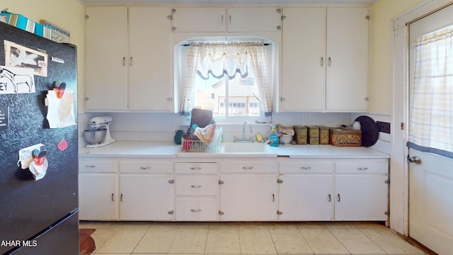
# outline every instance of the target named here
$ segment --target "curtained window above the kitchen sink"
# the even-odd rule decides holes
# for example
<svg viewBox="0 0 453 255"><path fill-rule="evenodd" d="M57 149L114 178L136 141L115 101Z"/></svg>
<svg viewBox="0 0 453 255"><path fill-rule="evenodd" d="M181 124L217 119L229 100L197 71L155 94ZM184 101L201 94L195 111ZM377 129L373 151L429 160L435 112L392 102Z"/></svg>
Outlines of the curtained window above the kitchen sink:
<svg viewBox="0 0 453 255"><path fill-rule="evenodd" d="M193 107L212 110L220 123L271 121L279 51L278 45L262 39L191 40L177 45L175 83L182 92L180 115L187 117Z"/></svg>

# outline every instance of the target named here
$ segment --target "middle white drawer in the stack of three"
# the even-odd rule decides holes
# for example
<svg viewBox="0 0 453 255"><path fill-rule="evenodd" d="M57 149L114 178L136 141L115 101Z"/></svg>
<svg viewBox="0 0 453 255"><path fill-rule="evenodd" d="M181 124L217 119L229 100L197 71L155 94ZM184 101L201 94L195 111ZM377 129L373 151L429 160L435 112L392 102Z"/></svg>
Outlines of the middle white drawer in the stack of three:
<svg viewBox="0 0 453 255"><path fill-rule="evenodd" d="M176 196L217 196L217 176L176 176Z"/></svg>

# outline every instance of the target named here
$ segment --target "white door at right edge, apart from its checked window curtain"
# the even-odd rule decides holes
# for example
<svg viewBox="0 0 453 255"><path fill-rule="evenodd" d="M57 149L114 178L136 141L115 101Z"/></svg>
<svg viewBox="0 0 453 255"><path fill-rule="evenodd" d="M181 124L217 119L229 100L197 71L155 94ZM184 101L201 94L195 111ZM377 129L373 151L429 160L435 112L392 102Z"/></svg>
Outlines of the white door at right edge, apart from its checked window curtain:
<svg viewBox="0 0 453 255"><path fill-rule="evenodd" d="M411 23L409 26L410 33L410 106L413 106L413 89L415 77L415 59L416 47L413 42L416 38L423 35L432 34L441 28L453 24L452 16L453 6L432 13L430 16ZM438 55L439 56L439 55ZM437 57L438 57L437 56ZM451 65L450 68L453 68ZM425 69L423 69L425 70ZM425 73L425 72L423 72ZM432 77L432 75L430 75ZM432 78L435 79L435 78ZM418 79L417 79L418 80ZM451 79L450 79L451 81ZM449 84L445 82L443 84ZM450 88L451 88L450 84ZM435 94L435 89L430 89L430 93ZM451 111L452 102L447 101L449 111ZM439 113L435 106L430 107L430 111ZM410 117L412 121L417 119ZM449 125L450 133L452 132L452 123ZM411 127L409 127L411 129ZM415 132L418 129L412 128L409 131ZM425 131L430 132L430 131ZM443 139L451 140L445 133ZM408 149L411 164L409 164L409 236L421 244L427 246L437 254L451 254L453 243L453 159L449 157L421 152L417 147L412 146ZM424 150L424 149L423 149Z"/></svg>

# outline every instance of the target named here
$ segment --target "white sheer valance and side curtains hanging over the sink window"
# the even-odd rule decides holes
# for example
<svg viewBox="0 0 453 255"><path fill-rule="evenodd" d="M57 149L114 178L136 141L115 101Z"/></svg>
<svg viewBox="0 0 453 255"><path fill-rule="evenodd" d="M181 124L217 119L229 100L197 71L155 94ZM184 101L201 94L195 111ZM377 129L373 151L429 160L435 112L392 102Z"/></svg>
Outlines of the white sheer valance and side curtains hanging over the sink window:
<svg viewBox="0 0 453 255"><path fill-rule="evenodd" d="M188 102L193 95L196 75L202 79L208 79L209 75L217 78L226 75L233 79L236 73L246 77L248 60L255 74L263 111L266 116L271 115L272 98L263 42L190 42L181 115L190 115Z"/></svg>

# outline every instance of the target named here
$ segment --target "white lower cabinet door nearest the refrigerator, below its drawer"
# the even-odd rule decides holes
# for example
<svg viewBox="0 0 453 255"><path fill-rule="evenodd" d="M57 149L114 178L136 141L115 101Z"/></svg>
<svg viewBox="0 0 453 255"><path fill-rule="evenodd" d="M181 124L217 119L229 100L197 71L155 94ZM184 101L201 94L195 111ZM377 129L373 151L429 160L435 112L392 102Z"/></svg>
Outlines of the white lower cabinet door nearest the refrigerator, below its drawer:
<svg viewBox="0 0 453 255"><path fill-rule="evenodd" d="M117 220L117 175L79 174L80 220Z"/></svg>

